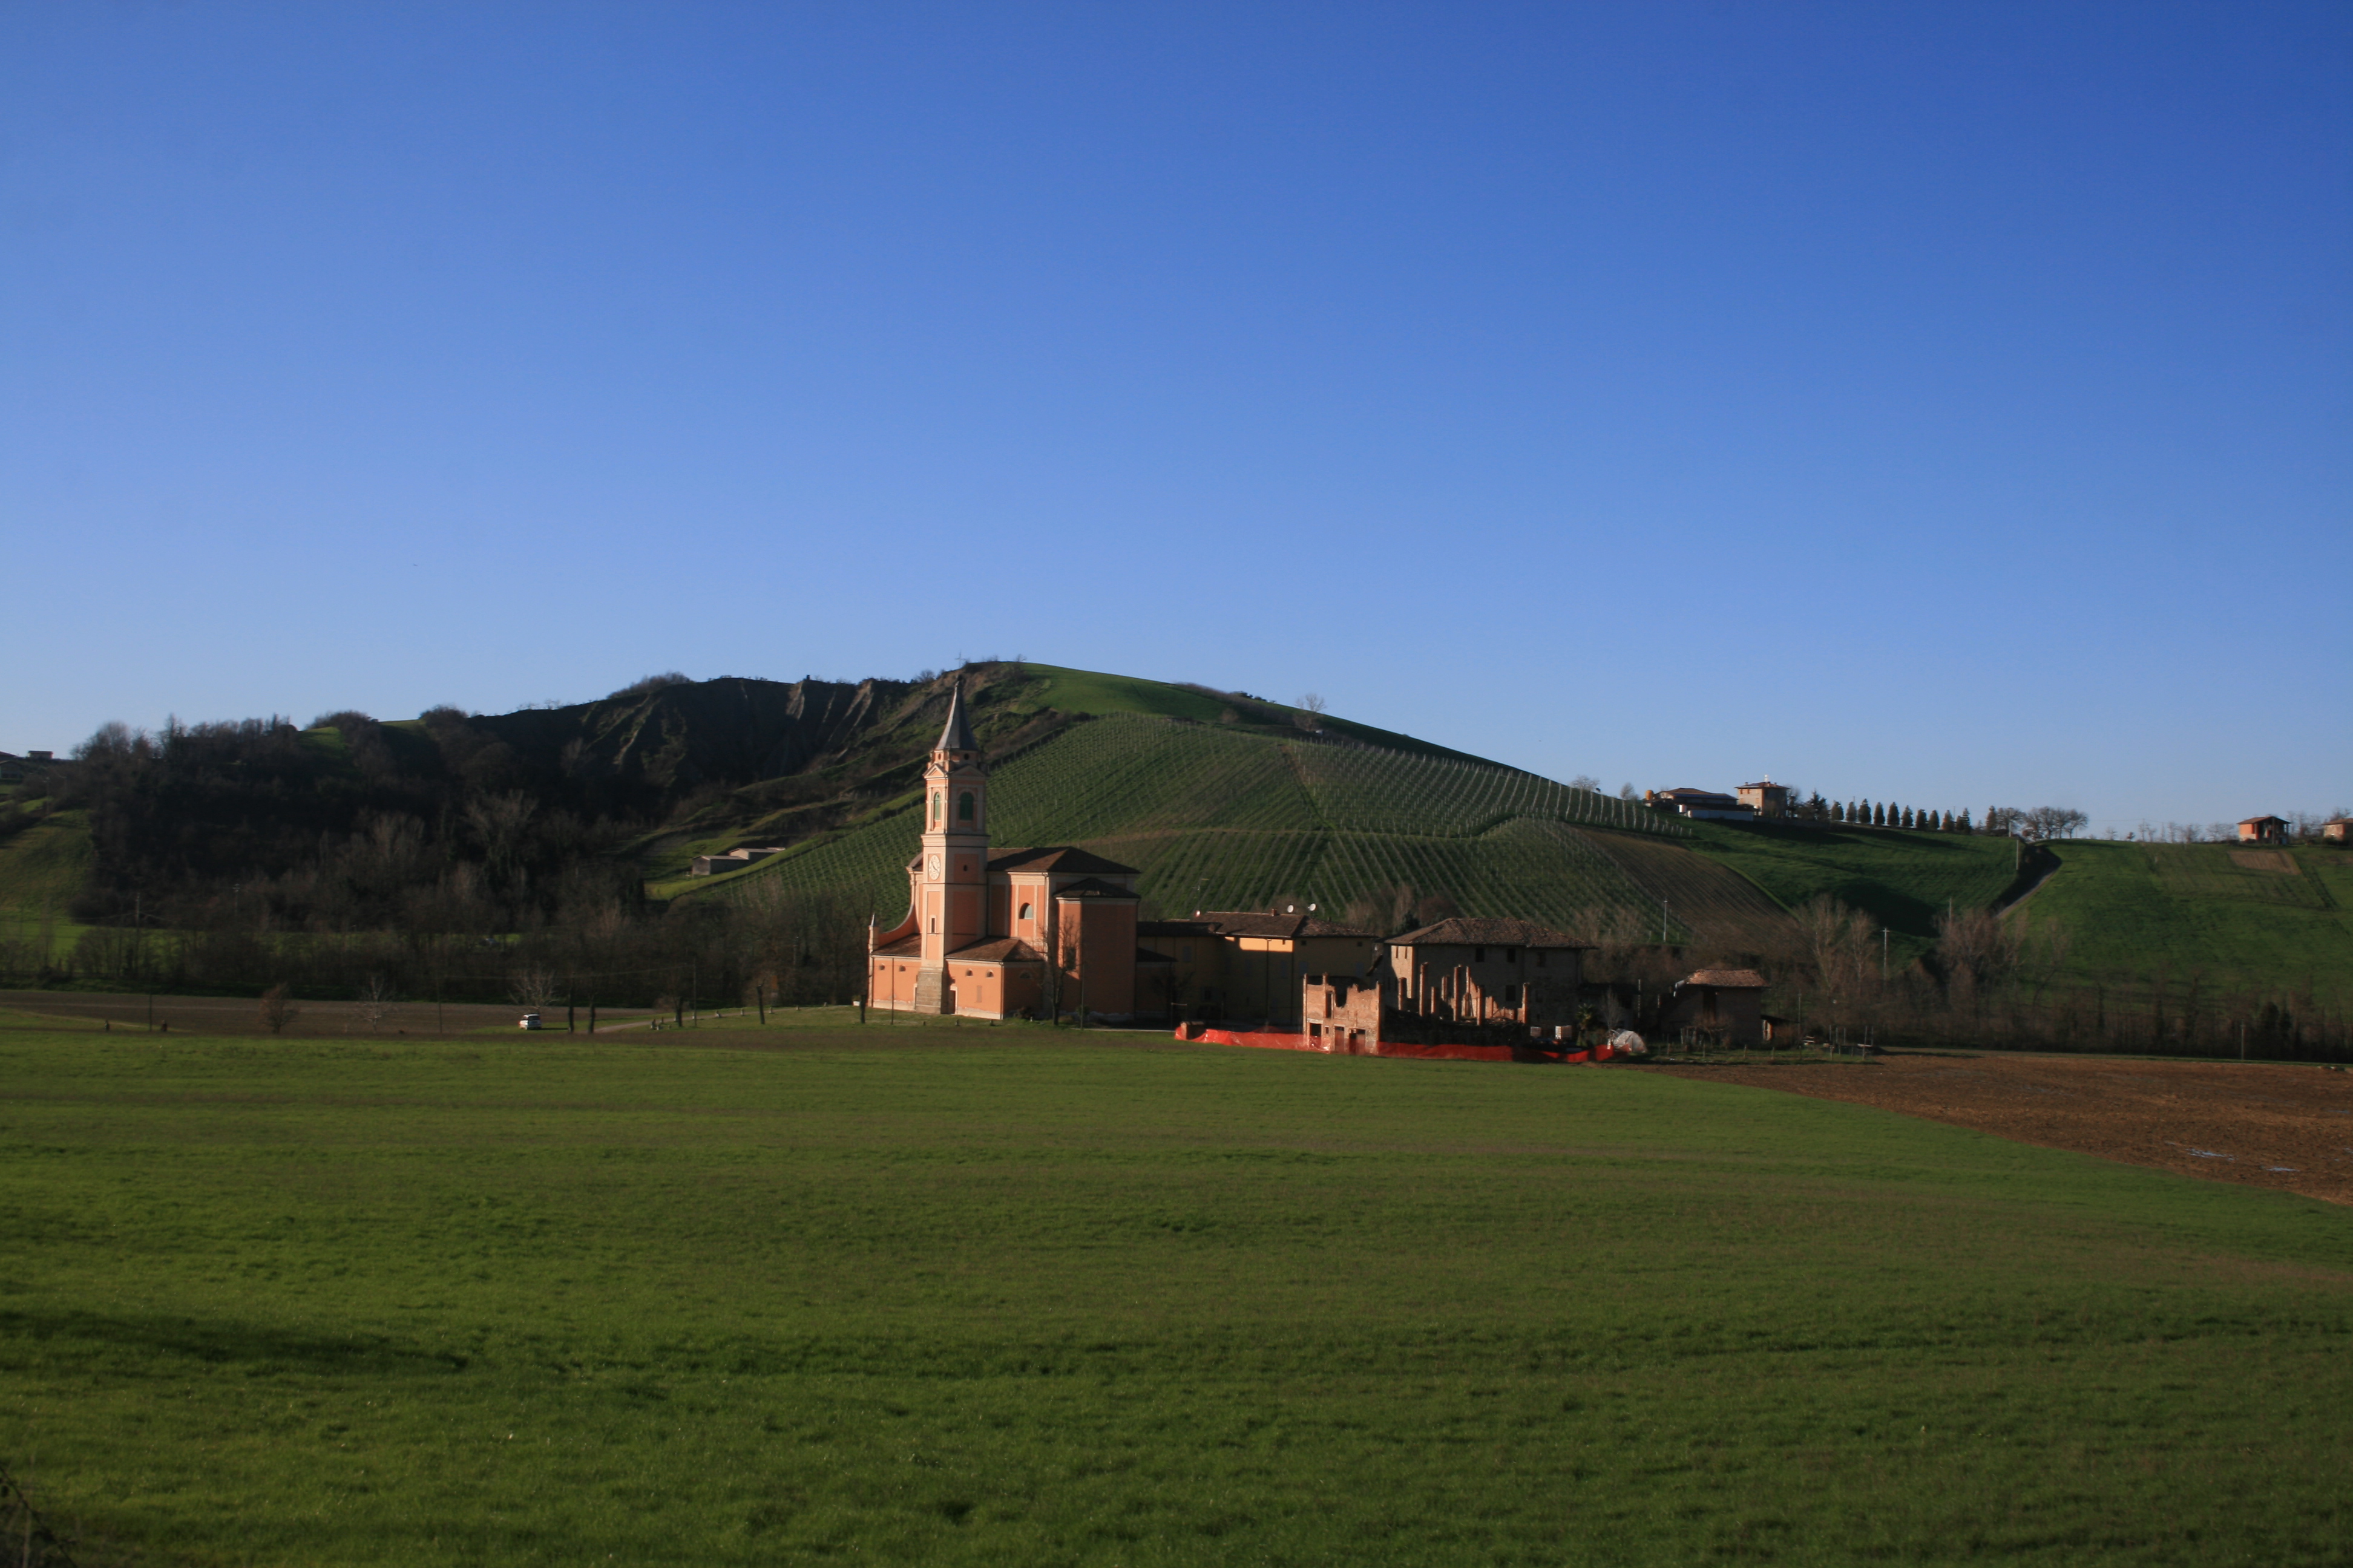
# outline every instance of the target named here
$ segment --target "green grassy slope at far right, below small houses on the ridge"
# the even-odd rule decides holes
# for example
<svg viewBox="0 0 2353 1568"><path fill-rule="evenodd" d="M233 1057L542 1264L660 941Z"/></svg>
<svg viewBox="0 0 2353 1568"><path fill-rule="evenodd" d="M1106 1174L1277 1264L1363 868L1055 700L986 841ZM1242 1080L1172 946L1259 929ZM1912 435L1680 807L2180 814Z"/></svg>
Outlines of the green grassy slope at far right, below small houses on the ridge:
<svg viewBox="0 0 2353 1568"><path fill-rule="evenodd" d="M2292 872L2257 870L2224 844L2054 844L2059 870L2026 910L2071 931L2078 978L2304 985L2353 992L2353 856L2268 851Z"/></svg>

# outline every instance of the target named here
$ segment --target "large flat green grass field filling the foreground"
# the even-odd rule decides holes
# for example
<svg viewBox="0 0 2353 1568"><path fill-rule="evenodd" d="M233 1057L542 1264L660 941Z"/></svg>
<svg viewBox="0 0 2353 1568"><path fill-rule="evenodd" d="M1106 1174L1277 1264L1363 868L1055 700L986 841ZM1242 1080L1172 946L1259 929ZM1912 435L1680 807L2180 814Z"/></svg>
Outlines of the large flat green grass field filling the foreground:
<svg viewBox="0 0 2353 1568"><path fill-rule="evenodd" d="M144 1563L2353 1554L2341 1208L1633 1070L793 1023L0 1023L7 1458Z"/></svg>

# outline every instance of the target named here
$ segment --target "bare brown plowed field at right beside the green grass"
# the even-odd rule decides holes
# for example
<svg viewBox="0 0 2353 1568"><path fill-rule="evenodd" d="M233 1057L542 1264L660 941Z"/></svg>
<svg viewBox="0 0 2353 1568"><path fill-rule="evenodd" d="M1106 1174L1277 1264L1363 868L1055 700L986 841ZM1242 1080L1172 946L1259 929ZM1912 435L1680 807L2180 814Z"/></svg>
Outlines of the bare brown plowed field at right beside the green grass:
<svg viewBox="0 0 2353 1568"><path fill-rule="evenodd" d="M2007 1053L1645 1072L1878 1105L2047 1150L2353 1204L2353 1072Z"/></svg>

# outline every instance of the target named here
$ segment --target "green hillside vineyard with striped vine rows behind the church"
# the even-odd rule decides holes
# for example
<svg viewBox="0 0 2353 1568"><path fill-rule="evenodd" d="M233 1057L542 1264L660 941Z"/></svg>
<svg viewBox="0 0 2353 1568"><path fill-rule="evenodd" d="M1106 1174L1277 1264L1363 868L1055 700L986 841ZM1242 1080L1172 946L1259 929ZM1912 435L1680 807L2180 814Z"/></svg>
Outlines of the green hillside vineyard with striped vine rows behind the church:
<svg viewBox="0 0 2353 1568"><path fill-rule="evenodd" d="M906 907L918 799L751 870L654 891L852 891L889 922ZM1671 844L1680 823L1452 755L1113 712L1000 762L991 802L998 844L1085 844L1136 865L1165 914L1299 898L1398 929L1442 898L1652 940L1666 919L1675 940L1734 947L1769 945L1781 917L1737 872Z"/></svg>

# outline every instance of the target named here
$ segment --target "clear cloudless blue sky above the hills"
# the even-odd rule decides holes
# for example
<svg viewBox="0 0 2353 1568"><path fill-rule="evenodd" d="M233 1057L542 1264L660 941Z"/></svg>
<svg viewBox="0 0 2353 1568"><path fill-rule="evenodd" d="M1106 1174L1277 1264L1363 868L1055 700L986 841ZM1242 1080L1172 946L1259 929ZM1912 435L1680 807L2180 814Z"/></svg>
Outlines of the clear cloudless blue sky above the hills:
<svg viewBox="0 0 2353 1568"><path fill-rule="evenodd" d="M0 748L1014 656L2353 799L2341 5L0 5Z"/></svg>

